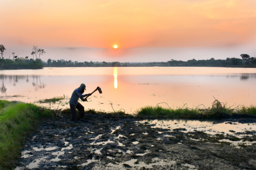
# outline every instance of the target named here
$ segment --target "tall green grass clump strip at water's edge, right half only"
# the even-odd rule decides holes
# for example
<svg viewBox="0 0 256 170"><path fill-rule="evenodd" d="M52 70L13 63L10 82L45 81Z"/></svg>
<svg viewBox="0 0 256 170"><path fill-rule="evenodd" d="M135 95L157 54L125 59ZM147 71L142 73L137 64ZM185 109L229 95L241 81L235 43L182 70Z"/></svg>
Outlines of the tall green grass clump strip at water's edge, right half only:
<svg viewBox="0 0 256 170"><path fill-rule="evenodd" d="M143 118L178 118L178 119L222 119L222 118L240 118L240 117L255 117L256 107L240 107L230 108L226 107L224 103L218 100L213 102L211 108L205 109L189 109L189 108L162 108L158 105L156 107L143 107L139 109L137 116Z"/></svg>

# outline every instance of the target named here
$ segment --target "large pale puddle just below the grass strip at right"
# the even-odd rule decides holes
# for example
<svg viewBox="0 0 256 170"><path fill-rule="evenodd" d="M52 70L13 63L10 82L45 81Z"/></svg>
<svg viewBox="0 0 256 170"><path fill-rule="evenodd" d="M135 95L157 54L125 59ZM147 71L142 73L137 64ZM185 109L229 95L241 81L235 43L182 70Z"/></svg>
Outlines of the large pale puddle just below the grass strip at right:
<svg viewBox="0 0 256 170"><path fill-rule="evenodd" d="M247 134L247 131L256 131L256 123L241 124L239 122L207 122L207 121L180 121L180 120L153 120L153 121L139 121L138 124L150 124L152 129L166 129L166 131L158 131L158 134L164 134L172 131L182 131L184 133L201 131L203 133L216 136L224 135L224 138L236 137L236 138L250 138L251 134ZM171 135L164 135L164 137L173 137ZM163 140L162 138L156 138L156 140ZM200 139L192 139L200 141ZM255 142L246 141L234 141L229 139L221 139L219 142L229 142L233 146L238 145L253 145Z"/></svg>

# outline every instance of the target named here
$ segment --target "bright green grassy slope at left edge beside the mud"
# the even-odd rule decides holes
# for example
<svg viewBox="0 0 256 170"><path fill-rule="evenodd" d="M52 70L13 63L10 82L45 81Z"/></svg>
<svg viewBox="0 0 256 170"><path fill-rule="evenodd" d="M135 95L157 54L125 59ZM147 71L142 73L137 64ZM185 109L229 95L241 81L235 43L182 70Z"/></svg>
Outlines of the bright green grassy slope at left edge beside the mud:
<svg viewBox="0 0 256 170"><path fill-rule="evenodd" d="M35 129L40 118L51 115L34 104L0 100L0 169L15 167L28 133Z"/></svg>

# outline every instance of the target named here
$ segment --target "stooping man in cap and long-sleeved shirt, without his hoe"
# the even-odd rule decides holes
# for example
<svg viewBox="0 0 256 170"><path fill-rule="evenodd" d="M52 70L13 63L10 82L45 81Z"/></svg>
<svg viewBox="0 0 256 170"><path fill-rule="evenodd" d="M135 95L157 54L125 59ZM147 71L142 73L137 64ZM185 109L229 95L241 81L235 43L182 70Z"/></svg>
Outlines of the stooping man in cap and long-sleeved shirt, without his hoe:
<svg viewBox="0 0 256 170"><path fill-rule="evenodd" d="M82 101L87 101L87 99L84 99L84 97L90 96L91 94L82 95L85 90L85 84L82 83L80 87L76 88L73 91L73 94L71 95L71 98L69 100L71 110L71 121L76 121L76 109L80 113L79 119L84 117L84 107L78 102L78 100L80 98Z"/></svg>

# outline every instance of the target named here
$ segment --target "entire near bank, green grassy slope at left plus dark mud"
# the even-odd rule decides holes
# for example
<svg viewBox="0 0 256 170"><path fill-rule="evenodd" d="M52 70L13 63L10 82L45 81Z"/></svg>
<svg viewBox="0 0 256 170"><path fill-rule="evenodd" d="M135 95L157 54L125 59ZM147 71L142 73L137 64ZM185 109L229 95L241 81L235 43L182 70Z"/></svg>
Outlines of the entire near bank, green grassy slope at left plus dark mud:
<svg viewBox="0 0 256 170"><path fill-rule="evenodd" d="M221 131L213 135L208 133L209 130L200 130L200 127L195 127L193 130L185 125L177 127L176 125L189 120L180 118L173 125L167 123L169 128L159 127L154 123L156 118L160 118L159 113L163 116L160 122L168 120L168 114L164 114L159 108L152 109L153 113L158 114L144 116L143 114L132 116L124 112L103 113L89 110L86 111L84 119L71 122L69 109L52 111L33 104L12 103L4 100L0 101L0 106L2 169L16 166L16 169L33 167L139 169L161 168L161 166L162 168L171 166L173 169L188 169L188 167L209 169L226 166L228 169L230 167L231 169L252 169L256 167L256 160L251 159L256 156L256 130L250 128L246 131L231 129L228 132ZM184 113L189 113L188 109L183 110ZM243 110L251 111L252 109ZM209 113L214 115L213 112ZM184 115L193 116L190 113ZM229 114L218 112L216 115ZM217 119L208 116L204 121L201 117L201 121L207 120L212 125L250 124L251 127L255 127L254 115L239 115L240 117L230 114L229 117L217 117ZM241 153L239 164L236 153ZM207 164L205 164L205 157L208 158ZM211 163L213 160L216 164Z"/></svg>

